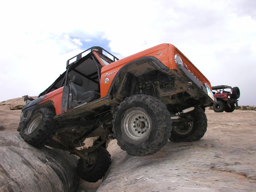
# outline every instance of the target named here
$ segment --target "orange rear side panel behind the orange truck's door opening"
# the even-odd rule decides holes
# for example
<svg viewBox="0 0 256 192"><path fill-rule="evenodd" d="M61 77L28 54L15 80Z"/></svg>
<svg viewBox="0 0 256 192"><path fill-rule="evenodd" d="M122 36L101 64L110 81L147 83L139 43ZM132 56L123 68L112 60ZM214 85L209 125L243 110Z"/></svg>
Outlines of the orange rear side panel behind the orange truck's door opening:
<svg viewBox="0 0 256 192"><path fill-rule="evenodd" d="M50 101L54 104L55 107L55 111L56 111L56 115L60 114L60 107L61 107L61 100L62 100L62 92L63 87L58 88L48 94L45 95L45 97L43 98L43 100L39 103L42 104L44 102Z"/></svg>

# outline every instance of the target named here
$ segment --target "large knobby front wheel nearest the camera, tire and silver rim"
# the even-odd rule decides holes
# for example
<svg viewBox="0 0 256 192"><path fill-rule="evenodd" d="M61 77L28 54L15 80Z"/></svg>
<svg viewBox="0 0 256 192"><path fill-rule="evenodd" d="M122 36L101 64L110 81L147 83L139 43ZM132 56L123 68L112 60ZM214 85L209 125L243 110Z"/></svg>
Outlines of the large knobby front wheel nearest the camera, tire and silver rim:
<svg viewBox="0 0 256 192"><path fill-rule="evenodd" d="M132 118L130 115L133 113ZM124 126L125 122L127 126ZM152 96L133 95L124 99L116 108L113 136L121 149L132 156L145 156L159 151L168 142L171 130L169 111L160 100Z"/></svg>

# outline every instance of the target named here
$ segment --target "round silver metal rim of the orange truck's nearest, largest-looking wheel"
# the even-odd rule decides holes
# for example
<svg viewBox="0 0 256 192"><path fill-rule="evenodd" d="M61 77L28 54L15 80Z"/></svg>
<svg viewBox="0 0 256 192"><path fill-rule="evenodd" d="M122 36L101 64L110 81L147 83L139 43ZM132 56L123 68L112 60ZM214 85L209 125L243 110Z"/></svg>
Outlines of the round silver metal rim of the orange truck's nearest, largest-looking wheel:
<svg viewBox="0 0 256 192"><path fill-rule="evenodd" d="M150 118L140 110L129 112L124 118L124 132L132 140L144 139L150 132Z"/></svg>

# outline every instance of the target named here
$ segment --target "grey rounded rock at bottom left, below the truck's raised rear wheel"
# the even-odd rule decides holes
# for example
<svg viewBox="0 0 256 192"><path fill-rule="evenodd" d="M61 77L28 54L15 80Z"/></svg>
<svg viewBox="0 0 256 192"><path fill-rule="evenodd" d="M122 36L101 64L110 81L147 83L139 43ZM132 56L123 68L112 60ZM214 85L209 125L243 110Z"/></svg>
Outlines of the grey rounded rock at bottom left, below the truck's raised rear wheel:
<svg viewBox="0 0 256 192"><path fill-rule="evenodd" d="M17 134L0 134L0 191L70 192L80 184L76 158L53 148L36 149Z"/></svg>

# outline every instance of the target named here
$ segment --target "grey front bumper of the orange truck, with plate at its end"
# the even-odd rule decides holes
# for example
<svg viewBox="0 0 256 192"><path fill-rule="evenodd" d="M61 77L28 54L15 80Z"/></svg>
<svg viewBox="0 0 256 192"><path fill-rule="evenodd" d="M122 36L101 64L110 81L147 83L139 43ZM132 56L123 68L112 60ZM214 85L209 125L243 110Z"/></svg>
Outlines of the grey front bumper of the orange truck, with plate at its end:
<svg viewBox="0 0 256 192"><path fill-rule="evenodd" d="M192 75L186 68L184 68L184 66L182 65L178 65L178 69L180 70L180 72L182 72L184 74L184 76L186 76L187 80L192 82L199 90L200 94L202 94L205 98L204 103L214 103L216 102L216 98L214 98L214 100L212 100L212 98L210 96L208 96L208 92L205 86L203 86L195 77L194 75Z"/></svg>

